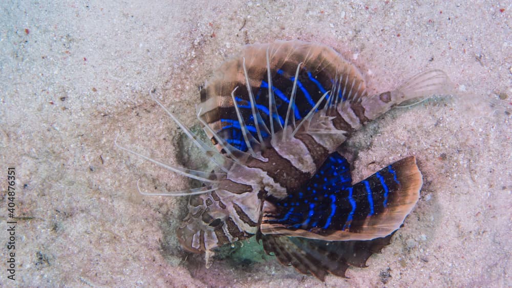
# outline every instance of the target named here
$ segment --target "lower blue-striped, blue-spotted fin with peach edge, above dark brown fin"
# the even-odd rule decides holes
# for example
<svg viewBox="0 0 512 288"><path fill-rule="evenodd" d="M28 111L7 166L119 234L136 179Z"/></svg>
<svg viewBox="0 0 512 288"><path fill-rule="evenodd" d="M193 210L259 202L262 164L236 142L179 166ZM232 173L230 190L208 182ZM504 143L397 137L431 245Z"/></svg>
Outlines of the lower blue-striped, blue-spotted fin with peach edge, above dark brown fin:
<svg viewBox="0 0 512 288"><path fill-rule="evenodd" d="M400 228L419 198L416 159L404 158L355 185L349 185L347 166L333 153L305 189L282 200L267 197L261 232L341 241L385 237Z"/></svg>

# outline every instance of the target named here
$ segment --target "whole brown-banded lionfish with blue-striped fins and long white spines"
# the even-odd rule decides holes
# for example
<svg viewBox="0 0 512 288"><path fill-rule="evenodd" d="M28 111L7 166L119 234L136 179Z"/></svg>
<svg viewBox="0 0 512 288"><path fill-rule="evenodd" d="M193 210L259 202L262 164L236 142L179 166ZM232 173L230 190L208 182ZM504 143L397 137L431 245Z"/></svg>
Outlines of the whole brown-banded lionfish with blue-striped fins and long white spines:
<svg viewBox="0 0 512 288"><path fill-rule="evenodd" d="M120 148L203 183L164 194L190 195L177 235L185 250L206 253L207 265L216 248L256 235L267 254L301 273L345 277L350 265L366 267L389 245L418 201L422 176L409 156L353 184L349 157L338 148L392 107L442 93L448 83L431 70L369 95L359 70L329 47L249 45L201 91L197 116L215 148L152 96L215 163L213 171Z"/></svg>

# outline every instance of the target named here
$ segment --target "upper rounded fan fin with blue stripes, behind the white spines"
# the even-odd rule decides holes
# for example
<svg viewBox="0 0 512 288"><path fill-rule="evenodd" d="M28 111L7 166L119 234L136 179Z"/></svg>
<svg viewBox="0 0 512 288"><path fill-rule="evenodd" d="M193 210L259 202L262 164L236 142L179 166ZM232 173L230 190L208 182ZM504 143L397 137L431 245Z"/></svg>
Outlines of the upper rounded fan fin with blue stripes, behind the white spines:
<svg viewBox="0 0 512 288"><path fill-rule="evenodd" d="M258 145L245 140L247 131L264 148L262 142L270 140L274 130L295 127L301 120L309 122L312 110L322 110L324 116L337 115L337 104L359 101L362 96L367 96L366 85L358 69L333 49L302 41L276 41L246 46L238 57L226 61L201 91L198 108L200 117L217 135L241 151L250 151Z"/></svg>

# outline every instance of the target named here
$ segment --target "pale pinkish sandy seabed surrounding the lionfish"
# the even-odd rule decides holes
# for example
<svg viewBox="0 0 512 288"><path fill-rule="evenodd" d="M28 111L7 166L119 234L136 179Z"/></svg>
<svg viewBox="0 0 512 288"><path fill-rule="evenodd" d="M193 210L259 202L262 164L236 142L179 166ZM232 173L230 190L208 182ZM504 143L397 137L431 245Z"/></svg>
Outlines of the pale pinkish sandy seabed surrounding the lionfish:
<svg viewBox="0 0 512 288"><path fill-rule="evenodd" d="M0 285L512 285L512 5L503 1L0 3ZM354 179L407 155L423 173L405 226L368 268L325 283L274 258L209 270L180 248L187 181L115 148L177 163L198 87L243 45L329 45L379 91L442 69L453 97L395 109L352 140ZM8 167L15 216L8 217ZM15 250L9 225L16 220ZM15 252L15 281L8 278ZM254 260L254 259L253 259Z"/></svg>

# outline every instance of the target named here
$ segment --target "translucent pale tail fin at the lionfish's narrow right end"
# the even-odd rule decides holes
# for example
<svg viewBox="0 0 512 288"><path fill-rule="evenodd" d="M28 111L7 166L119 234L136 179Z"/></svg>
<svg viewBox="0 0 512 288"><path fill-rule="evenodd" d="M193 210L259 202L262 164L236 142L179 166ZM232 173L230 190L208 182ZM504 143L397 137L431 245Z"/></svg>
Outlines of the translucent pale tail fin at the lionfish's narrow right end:
<svg viewBox="0 0 512 288"><path fill-rule="evenodd" d="M365 117L373 120L400 103L450 93L452 86L444 71L429 70L413 76L394 91L362 98L361 105L365 108Z"/></svg>

